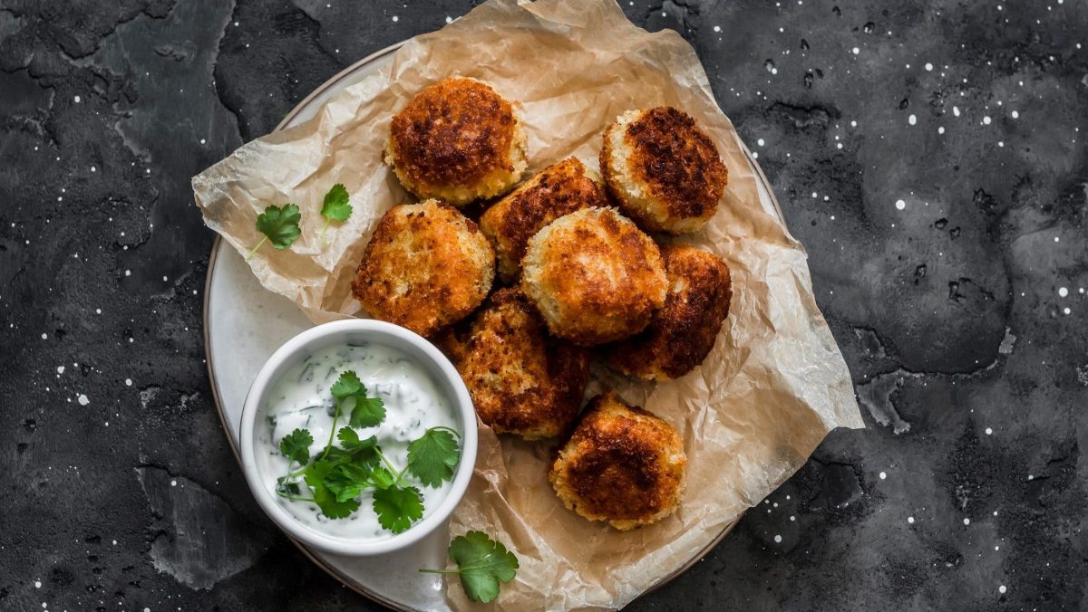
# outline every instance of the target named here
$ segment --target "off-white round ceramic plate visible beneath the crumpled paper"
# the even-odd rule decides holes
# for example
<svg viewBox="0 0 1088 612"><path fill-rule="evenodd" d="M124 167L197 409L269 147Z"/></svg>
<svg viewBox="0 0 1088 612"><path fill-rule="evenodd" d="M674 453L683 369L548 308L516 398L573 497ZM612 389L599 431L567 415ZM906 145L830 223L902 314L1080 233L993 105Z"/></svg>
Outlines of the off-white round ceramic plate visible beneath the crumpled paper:
<svg viewBox="0 0 1088 612"><path fill-rule="evenodd" d="M398 43L383 49L325 82L295 107L276 129L312 117L345 87L387 65L399 47ZM781 220L767 178L744 143L739 143L756 175L763 207ZM237 455L242 405L257 371L281 345L312 324L294 302L261 287L242 255L217 238L205 283L203 325L215 407ZM732 524L722 529L710 545L676 567L657 586L702 559L731 528ZM376 558L339 557L295 544L321 569L360 594L397 610L422 611L448 609L442 577L417 572L420 567L444 567L448 542L448 528L443 527L408 550Z"/></svg>

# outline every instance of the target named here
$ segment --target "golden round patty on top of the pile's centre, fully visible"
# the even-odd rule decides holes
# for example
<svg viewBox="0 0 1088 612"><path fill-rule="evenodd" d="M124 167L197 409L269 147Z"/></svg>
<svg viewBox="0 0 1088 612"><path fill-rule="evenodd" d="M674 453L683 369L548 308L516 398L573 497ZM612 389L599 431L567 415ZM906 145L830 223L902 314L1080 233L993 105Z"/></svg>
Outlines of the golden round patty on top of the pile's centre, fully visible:
<svg viewBox="0 0 1088 612"><path fill-rule="evenodd" d="M529 240L521 287L556 336L581 345L641 332L665 303L657 245L613 209L560 216Z"/></svg>

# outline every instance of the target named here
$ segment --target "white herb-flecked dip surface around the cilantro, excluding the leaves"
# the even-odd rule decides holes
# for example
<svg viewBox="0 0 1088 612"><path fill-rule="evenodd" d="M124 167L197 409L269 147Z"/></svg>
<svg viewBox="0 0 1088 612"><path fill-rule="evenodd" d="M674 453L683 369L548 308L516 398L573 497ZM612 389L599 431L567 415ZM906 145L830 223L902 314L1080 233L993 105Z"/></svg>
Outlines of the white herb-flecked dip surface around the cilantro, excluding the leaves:
<svg viewBox="0 0 1088 612"><path fill-rule="evenodd" d="M280 453L280 440L295 429L309 429L313 436L310 457L317 457L329 442L335 403L331 388L342 373L353 370L367 386L369 397L385 403L385 420L376 427L356 428L360 438L378 437L378 446L397 470L408 464L408 442L431 427L445 426L460 432L450 402L441 394L426 371L398 349L374 342L335 346L302 360L272 387L256 427L258 471L272 497L300 523L330 536L354 540L382 540L393 537L383 528L373 510L374 497L366 490L359 497L359 510L346 519L329 519L313 502L296 501L276 495L276 478L298 470L288 466ZM336 429L348 426L348 414L341 414ZM333 446L339 446L333 438ZM408 485L423 494L423 516L431 514L449 492L450 483L441 488L423 486L405 474ZM301 478L304 496L309 490ZM415 524L415 523L413 523Z"/></svg>

